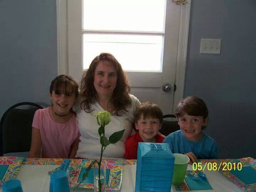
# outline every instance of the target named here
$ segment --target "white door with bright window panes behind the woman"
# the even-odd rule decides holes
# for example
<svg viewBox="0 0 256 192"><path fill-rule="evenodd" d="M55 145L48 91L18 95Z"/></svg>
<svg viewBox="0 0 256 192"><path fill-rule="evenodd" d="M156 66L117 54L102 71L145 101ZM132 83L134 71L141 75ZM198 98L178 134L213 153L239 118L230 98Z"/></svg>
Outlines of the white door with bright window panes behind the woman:
<svg viewBox="0 0 256 192"><path fill-rule="evenodd" d="M88 2L89 0L84 1ZM119 0L119 2L122 1L124 0ZM140 0L137 0L137 2L138 1ZM156 0L151 1L156 2ZM126 71L131 83L131 94L136 96L140 100L140 102L151 101L153 103L156 103L162 109L163 114L173 114L173 110L175 107L174 104L178 103L178 101L183 96L190 4L176 5L176 3L172 2L171 0L163 1L165 7L165 20L163 22L162 30L146 31L128 29L121 31L115 29L106 30L105 28L98 28L97 30L85 29L83 20L88 17L92 19L95 14L100 14L100 12L102 11L95 10L95 14L89 14L88 16L84 17L83 10L86 8L83 6L85 2L83 2L82 0L68 0L68 74L74 76L78 80L81 79L82 71L86 69L85 63L88 64L88 62L85 62L86 56L92 54L92 52L95 51L92 48L93 45L90 44L93 40L87 39L87 37L91 35L92 39L96 39L95 42L101 43L98 44L98 46L96 47L102 48L100 50L97 50L98 52L92 54L94 57L101 52L110 52L118 60L120 58L119 62L121 64L127 64L127 66L123 68L128 68L128 70ZM106 10L108 10L108 7L106 7ZM116 7L116 10L119 10L119 8ZM133 11L135 12L135 9L130 9L130 14L133 14ZM97 25L101 26L101 23L106 22L106 20L104 17L102 17L102 20L99 21ZM119 34L123 34L124 36L138 35L141 36L141 39L143 39L144 36L159 36L162 38L160 65L158 63L159 66L156 67L155 70L152 70L151 68L148 69L147 64L151 62L151 58L152 60L155 59L153 58L153 52L149 52L148 54L142 52L140 53L141 57L138 58L140 59L140 64L137 65L141 65L141 63L143 63L145 65L144 68L142 70L133 70L133 68L130 69L129 67L133 65L136 60L138 60L134 58L133 62L133 60L131 60L130 58L133 57L133 55L136 54L135 52L138 52L138 50L136 50L133 54L127 53L126 55L127 57L129 57L129 59L126 60L124 59L124 57L122 57L121 53L120 55L118 55L118 52L116 52L115 54L115 49L111 49L112 51L110 51L108 46L104 47L104 44L102 44L102 40L98 40L101 37L94 36L95 34L100 34L103 36L114 36ZM123 40L121 39L120 42L124 43L122 41ZM109 40L108 43L110 42L113 43L112 40ZM117 43L120 44L120 42ZM154 44L154 42L151 44ZM136 48L138 48L138 46L134 47L134 49ZM93 58L90 58L89 60L91 61L92 59ZM145 62L143 62L144 60ZM148 66L151 65L152 63L148 64ZM177 90L174 92L175 84L177 86ZM165 91L163 89L163 86L166 88Z"/></svg>

